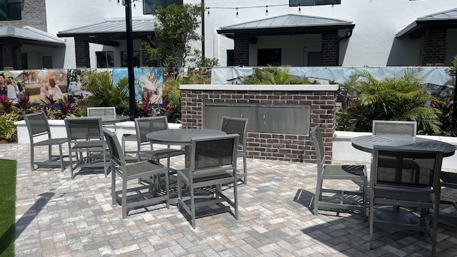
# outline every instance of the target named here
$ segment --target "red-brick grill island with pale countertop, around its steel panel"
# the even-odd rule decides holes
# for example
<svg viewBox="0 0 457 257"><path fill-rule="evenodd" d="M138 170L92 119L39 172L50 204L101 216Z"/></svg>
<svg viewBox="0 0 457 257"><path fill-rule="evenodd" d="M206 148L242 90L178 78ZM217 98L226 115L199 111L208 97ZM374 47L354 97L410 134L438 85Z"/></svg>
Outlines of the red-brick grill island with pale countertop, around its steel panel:
<svg viewBox="0 0 457 257"><path fill-rule="evenodd" d="M338 85L181 85L180 89L183 129L204 128L206 104L309 106L309 121L306 122L309 128L321 125L326 146L326 162L331 163ZM299 134L249 132L247 156L316 162L309 129L303 129Z"/></svg>

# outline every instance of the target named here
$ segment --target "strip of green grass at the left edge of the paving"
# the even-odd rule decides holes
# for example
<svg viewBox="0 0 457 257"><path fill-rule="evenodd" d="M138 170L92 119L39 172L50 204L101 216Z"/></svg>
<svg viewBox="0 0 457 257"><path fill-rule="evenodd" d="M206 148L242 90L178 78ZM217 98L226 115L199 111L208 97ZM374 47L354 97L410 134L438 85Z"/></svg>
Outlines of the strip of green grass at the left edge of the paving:
<svg viewBox="0 0 457 257"><path fill-rule="evenodd" d="M0 256L14 256L16 161L0 159Z"/></svg>

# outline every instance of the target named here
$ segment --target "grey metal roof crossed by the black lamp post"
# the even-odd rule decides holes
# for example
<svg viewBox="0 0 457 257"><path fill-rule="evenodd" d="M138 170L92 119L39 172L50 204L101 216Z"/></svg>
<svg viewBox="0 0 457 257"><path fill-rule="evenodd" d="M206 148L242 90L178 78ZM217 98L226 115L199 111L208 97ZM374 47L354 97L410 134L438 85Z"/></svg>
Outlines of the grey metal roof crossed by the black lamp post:
<svg viewBox="0 0 457 257"><path fill-rule="evenodd" d="M156 24L159 24L158 19L132 19L132 31L138 32L151 32L154 31ZM91 34L116 34L126 33L126 20L125 19L107 19L99 24L92 24L89 26L82 26L76 29L69 29L66 31L59 31L57 36L69 37L78 35L91 35Z"/></svg>

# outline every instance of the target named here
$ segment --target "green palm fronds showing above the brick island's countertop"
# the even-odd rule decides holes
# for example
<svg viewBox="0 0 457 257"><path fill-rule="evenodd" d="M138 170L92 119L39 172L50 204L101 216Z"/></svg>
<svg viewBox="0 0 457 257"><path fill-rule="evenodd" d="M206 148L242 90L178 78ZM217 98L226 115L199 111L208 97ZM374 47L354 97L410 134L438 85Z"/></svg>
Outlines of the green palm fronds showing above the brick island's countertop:
<svg viewBox="0 0 457 257"><path fill-rule="evenodd" d="M290 67L280 68L268 66L268 68L255 68L252 76L243 78L243 84L253 85L289 85L289 84L316 84L311 83L306 77L298 79L289 74Z"/></svg>

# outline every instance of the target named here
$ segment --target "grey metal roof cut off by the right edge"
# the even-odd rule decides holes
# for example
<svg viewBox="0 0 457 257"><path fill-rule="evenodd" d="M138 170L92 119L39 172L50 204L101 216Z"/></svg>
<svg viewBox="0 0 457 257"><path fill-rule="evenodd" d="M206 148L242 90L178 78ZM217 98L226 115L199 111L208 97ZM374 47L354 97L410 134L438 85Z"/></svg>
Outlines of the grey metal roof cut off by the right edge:
<svg viewBox="0 0 457 257"><path fill-rule="evenodd" d="M447 11L440 11L436 14L428 14L418 17L416 21L406 26L396 34L396 37L401 37L410 34L413 31L420 29L423 24L455 24L457 21L457 8Z"/></svg>

